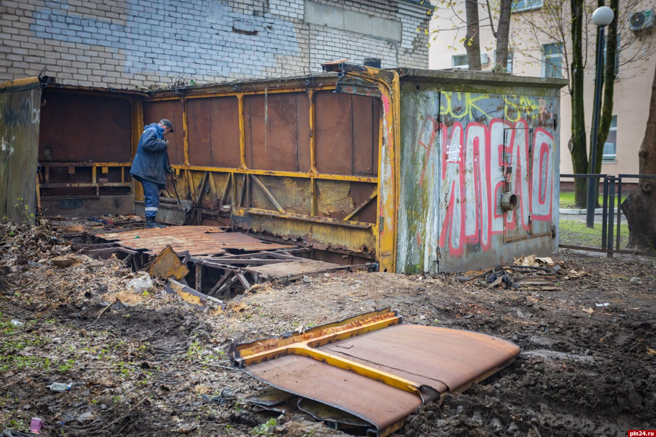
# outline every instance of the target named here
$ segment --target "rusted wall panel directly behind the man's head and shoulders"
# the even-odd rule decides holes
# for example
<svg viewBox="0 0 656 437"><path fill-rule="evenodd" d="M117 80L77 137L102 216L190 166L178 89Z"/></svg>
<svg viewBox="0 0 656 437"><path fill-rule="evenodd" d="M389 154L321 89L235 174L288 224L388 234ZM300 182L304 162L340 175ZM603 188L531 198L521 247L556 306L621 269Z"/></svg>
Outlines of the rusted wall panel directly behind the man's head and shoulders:
<svg viewBox="0 0 656 437"><path fill-rule="evenodd" d="M144 102L144 125L157 123L167 118L173 123L173 133L167 135L169 140L169 162L171 164L184 164L184 124L182 123L182 101L174 100L148 100ZM140 126L138 129L143 130ZM141 135L141 134L140 134Z"/></svg>

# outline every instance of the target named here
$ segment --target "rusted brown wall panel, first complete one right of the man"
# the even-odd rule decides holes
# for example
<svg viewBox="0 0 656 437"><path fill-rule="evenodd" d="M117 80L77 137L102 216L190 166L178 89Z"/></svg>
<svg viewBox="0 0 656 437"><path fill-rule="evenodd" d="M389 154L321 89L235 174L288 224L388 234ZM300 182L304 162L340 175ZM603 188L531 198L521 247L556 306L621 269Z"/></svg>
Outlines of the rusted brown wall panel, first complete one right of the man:
<svg viewBox="0 0 656 437"><path fill-rule="evenodd" d="M238 106L236 96L186 101L191 165L239 167Z"/></svg>

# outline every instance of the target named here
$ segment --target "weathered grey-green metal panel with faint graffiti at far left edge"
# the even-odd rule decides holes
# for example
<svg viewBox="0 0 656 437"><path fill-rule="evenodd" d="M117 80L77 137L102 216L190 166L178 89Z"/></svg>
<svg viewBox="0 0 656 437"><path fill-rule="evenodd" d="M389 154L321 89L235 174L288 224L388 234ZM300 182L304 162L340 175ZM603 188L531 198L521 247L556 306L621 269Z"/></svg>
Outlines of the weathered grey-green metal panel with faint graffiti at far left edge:
<svg viewBox="0 0 656 437"><path fill-rule="evenodd" d="M38 77L0 85L0 217L33 222L41 108Z"/></svg>

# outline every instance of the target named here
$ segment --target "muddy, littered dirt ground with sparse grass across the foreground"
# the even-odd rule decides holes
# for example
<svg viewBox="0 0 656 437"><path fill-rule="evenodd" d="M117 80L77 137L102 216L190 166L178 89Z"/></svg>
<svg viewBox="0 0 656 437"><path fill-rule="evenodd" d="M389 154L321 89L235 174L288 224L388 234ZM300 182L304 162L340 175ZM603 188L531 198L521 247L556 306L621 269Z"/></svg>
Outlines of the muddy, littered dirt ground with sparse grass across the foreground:
<svg viewBox="0 0 656 437"><path fill-rule="evenodd" d="M55 266L58 256L75 262ZM2 222L0 432L27 432L40 417L43 434L53 436L346 435L304 413L256 411L246 399L266 385L230 368L228 344L386 306L405 323L478 331L522 348L497 375L419 407L394 435L626 436L656 428L656 260L568 252L554 260L560 270L548 287L319 274L257 286L209 317L163 283L131 291L136 274L119 260L72 253L49 226ZM56 382L70 390L51 390Z"/></svg>

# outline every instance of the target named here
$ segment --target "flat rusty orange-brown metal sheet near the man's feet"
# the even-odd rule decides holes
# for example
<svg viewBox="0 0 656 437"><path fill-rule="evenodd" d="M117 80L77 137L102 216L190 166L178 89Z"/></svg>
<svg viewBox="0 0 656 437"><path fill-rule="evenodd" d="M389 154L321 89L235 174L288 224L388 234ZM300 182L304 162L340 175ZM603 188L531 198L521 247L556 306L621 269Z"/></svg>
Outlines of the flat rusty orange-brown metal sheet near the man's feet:
<svg viewBox="0 0 656 437"><path fill-rule="evenodd" d="M240 232L223 232L213 226L167 226L161 229L98 234L96 237L115 241L133 250L146 249L146 253L150 254L159 253L167 245L176 252L189 251L192 256L225 253L226 249L260 251L297 247L268 243Z"/></svg>

